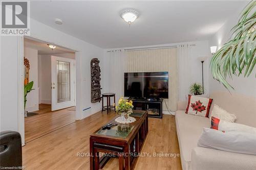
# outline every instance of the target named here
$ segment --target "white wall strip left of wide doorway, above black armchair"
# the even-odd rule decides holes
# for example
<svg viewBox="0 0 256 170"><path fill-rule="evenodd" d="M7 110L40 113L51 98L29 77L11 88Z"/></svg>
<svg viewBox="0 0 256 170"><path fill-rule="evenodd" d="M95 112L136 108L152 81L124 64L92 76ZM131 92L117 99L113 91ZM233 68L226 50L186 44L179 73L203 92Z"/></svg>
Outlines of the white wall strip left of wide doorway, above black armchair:
<svg viewBox="0 0 256 170"><path fill-rule="evenodd" d="M18 37L1 39L1 131L18 131Z"/></svg>

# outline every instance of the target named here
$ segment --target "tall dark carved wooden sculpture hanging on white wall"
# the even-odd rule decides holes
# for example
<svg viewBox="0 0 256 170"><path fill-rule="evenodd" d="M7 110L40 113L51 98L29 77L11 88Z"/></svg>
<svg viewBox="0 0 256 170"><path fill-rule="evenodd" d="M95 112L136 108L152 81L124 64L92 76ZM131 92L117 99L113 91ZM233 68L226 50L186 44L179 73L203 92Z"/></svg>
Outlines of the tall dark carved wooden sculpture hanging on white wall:
<svg viewBox="0 0 256 170"><path fill-rule="evenodd" d="M91 102L96 103L101 100L101 89L100 88L100 67L99 60L93 58L91 60Z"/></svg>

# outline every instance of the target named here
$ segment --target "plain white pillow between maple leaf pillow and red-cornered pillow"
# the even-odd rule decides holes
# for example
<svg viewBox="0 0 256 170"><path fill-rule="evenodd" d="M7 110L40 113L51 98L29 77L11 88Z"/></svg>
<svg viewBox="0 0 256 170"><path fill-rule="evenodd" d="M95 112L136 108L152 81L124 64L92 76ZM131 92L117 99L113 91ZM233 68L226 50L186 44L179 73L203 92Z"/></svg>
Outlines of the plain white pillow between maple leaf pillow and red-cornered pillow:
<svg viewBox="0 0 256 170"><path fill-rule="evenodd" d="M212 111L210 114L210 122L211 122L211 116L219 118L220 120L225 122L234 122L237 119L236 115L228 113L226 110L222 109L218 105L214 105L214 108L212 108Z"/></svg>

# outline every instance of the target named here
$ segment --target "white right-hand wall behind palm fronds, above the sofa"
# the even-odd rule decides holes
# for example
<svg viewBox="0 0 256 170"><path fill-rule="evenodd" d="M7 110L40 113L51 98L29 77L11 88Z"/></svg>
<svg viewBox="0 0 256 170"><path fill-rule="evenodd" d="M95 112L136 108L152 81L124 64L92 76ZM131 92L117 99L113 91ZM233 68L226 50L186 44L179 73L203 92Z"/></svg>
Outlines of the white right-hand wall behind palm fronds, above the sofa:
<svg viewBox="0 0 256 170"><path fill-rule="evenodd" d="M222 45L229 40L229 38L231 37L230 30L233 28L233 26L237 24L239 15L243 8L244 7L241 7L241 9L239 9L236 13L233 13L233 15L226 21L222 28L210 38L209 46L218 46L218 49L220 49ZM255 73L256 71L254 69L254 72L252 72L252 74L248 78L244 78L243 75L241 75L240 77L233 76L233 80L228 78L228 82L234 88L234 90L230 89L230 92L244 94L256 98ZM209 77L210 92L227 91L227 89L222 84L212 78L210 72Z"/></svg>

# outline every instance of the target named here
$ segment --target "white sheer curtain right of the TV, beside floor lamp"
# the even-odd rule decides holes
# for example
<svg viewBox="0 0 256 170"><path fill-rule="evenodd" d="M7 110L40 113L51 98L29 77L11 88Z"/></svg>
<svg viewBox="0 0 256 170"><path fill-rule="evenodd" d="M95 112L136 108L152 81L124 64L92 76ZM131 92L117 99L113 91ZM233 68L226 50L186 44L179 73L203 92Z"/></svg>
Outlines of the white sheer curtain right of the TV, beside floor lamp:
<svg viewBox="0 0 256 170"><path fill-rule="evenodd" d="M178 101L186 101L189 92L189 86L191 84L191 69L190 69L190 45L183 44L177 45L178 49Z"/></svg>

